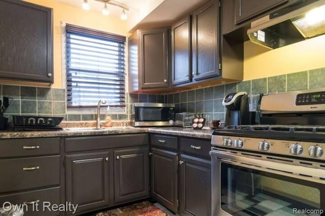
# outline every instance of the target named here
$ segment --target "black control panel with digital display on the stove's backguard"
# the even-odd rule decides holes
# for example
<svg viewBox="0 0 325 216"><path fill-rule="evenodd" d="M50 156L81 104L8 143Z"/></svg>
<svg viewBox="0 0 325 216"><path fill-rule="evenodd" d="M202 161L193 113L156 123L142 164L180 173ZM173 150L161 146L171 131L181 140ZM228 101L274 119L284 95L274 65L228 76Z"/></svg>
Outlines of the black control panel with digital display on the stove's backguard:
<svg viewBox="0 0 325 216"><path fill-rule="evenodd" d="M315 105L325 103L325 91L297 94L296 105Z"/></svg>

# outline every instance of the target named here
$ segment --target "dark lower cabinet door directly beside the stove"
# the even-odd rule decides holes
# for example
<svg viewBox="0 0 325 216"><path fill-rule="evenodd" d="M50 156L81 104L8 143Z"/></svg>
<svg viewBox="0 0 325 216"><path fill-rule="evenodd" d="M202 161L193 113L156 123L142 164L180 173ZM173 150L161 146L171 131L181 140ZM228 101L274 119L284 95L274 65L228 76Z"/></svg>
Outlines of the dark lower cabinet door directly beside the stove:
<svg viewBox="0 0 325 216"><path fill-rule="evenodd" d="M180 157L180 212L211 215L211 162L186 155Z"/></svg>

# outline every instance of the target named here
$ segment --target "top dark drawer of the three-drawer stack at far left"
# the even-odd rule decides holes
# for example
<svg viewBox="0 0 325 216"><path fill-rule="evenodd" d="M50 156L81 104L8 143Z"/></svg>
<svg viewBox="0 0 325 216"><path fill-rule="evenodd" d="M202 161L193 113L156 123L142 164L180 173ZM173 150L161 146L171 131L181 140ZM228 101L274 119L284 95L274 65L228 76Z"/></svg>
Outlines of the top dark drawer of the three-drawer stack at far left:
<svg viewBox="0 0 325 216"><path fill-rule="evenodd" d="M0 158L60 154L60 138L1 139Z"/></svg>

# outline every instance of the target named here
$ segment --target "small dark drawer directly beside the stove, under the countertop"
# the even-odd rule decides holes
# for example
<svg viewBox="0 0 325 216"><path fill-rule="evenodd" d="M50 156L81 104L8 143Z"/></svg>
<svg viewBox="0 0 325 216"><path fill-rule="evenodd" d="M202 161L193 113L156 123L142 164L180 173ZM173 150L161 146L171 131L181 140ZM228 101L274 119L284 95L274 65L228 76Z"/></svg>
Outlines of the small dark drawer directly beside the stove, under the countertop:
<svg viewBox="0 0 325 216"><path fill-rule="evenodd" d="M182 153L209 158L211 141L180 137L180 148Z"/></svg>

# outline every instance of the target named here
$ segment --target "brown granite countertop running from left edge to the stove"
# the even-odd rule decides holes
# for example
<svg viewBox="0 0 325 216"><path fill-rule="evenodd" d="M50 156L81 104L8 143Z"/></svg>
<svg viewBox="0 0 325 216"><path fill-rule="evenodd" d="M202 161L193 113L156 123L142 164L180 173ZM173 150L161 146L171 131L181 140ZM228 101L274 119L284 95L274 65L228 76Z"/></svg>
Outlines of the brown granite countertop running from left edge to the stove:
<svg viewBox="0 0 325 216"><path fill-rule="evenodd" d="M63 137L63 136L91 136L91 135L110 135L125 133L161 133L168 135L187 136L194 138L211 139L212 130L194 130L192 128L181 127L159 127L159 128L140 128L140 127L111 127L103 130L93 128L66 128L56 131L1 131L0 138L31 138L31 137Z"/></svg>

